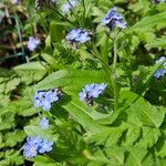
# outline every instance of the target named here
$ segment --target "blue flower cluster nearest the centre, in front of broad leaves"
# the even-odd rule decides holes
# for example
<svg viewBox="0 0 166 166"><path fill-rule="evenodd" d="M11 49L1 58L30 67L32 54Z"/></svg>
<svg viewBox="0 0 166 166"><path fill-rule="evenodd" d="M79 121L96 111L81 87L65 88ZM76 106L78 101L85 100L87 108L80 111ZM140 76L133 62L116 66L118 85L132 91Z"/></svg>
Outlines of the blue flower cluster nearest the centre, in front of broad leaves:
<svg viewBox="0 0 166 166"><path fill-rule="evenodd" d="M90 106L93 105L93 98L97 98L100 94L106 89L107 84L87 84L80 92L80 101L85 101Z"/></svg>

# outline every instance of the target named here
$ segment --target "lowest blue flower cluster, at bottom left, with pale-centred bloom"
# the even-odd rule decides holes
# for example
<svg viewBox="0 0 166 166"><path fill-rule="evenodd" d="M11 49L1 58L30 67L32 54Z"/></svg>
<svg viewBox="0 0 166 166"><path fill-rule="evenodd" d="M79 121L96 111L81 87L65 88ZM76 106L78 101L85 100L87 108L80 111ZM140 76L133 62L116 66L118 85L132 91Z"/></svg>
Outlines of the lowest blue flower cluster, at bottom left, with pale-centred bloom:
<svg viewBox="0 0 166 166"><path fill-rule="evenodd" d="M41 137L29 136L27 143L23 145L23 155L27 158L37 156L38 153L45 153L52 151L53 142L42 139Z"/></svg>

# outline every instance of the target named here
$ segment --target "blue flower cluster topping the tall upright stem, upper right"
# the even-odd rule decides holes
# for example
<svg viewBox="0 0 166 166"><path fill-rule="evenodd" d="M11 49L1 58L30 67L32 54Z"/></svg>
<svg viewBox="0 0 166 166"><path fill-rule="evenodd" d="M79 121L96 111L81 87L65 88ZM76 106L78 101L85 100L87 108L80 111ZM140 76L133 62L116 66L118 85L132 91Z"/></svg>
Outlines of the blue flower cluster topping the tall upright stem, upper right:
<svg viewBox="0 0 166 166"><path fill-rule="evenodd" d="M116 13L116 8L113 8L102 19L102 25L107 25L111 30L113 30L115 27L125 29L126 22L121 14Z"/></svg>

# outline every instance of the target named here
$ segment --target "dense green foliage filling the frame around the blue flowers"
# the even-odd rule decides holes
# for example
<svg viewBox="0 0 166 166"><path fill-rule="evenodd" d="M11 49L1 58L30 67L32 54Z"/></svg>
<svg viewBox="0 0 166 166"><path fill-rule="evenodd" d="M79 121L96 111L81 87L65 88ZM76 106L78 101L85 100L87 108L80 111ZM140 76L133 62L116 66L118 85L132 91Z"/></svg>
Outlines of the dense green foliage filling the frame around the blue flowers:
<svg viewBox="0 0 166 166"><path fill-rule="evenodd" d="M0 68L0 166L165 165L166 77L154 74L166 53L166 3L81 0L64 13L64 2L40 11L32 0L0 2L0 64L10 69ZM125 30L101 25L113 7L125 17ZM90 30L91 41L69 43L73 28ZM32 52L30 35L40 39ZM79 93L93 83L107 87L90 106ZM54 89L60 101L48 112L34 108L34 93ZM42 116L46 129L39 126ZM52 151L25 158L27 136L53 142Z"/></svg>

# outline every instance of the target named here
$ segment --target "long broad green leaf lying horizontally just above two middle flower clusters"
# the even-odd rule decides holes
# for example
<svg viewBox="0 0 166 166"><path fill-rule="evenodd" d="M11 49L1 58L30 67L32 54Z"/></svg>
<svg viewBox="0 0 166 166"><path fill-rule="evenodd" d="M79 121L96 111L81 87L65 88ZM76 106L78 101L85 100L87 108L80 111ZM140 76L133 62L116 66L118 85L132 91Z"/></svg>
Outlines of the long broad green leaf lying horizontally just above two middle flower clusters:
<svg viewBox="0 0 166 166"><path fill-rule="evenodd" d="M37 84L35 89L45 90L59 86L74 86L75 91L81 91L85 84L94 82L106 82L105 73L100 71L61 70L45 77ZM70 94L70 91L65 91L65 89L63 91Z"/></svg>

